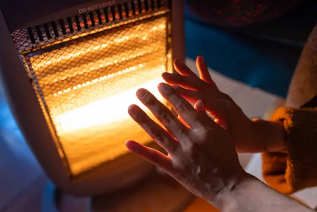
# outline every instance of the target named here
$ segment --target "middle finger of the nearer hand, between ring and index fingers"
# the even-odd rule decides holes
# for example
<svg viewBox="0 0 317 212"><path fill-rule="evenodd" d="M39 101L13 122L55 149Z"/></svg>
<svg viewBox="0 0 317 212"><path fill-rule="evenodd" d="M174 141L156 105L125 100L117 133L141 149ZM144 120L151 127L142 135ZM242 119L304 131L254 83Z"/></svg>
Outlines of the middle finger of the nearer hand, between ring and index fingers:
<svg viewBox="0 0 317 212"><path fill-rule="evenodd" d="M137 97L177 140L183 136L183 133L188 131L188 128L148 90L139 89Z"/></svg>

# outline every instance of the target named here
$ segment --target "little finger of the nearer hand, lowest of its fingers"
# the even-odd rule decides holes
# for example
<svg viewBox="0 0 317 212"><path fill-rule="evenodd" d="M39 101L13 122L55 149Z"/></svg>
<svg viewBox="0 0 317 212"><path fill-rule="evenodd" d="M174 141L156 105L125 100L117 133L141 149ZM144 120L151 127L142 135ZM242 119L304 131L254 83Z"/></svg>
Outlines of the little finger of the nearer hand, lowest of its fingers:
<svg viewBox="0 0 317 212"><path fill-rule="evenodd" d="M158 150L146 147L136 141L129 140L126 147L134 154L146 159L166 172L171 172L173 168L172 160Z"/></svg>

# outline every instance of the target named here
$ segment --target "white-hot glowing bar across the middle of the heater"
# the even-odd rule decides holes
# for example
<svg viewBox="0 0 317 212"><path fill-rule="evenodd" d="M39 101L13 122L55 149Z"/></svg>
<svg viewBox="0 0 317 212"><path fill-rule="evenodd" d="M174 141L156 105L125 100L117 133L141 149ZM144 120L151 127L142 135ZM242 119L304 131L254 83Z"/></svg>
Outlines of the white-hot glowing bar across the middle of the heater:
<svg viewBox="0 0 317 212"><path fill-rule="evenodd" d="M161 69L158 69L157 71L161 73L164 71L164 67L161 67ZM143 110L147 111L147 108L141 104L135 93L139 88L147 88L162 101L163 99L156 88L156 85L162 81L163 80L158 77L137 87L126 89L120 93L62 113L54 117L57 131L59 132L59 135L62 136L67 135L67 133L80 131L94 126L125 121L127 119L127 114L124 112L130 104L137 104Z"/></svg>

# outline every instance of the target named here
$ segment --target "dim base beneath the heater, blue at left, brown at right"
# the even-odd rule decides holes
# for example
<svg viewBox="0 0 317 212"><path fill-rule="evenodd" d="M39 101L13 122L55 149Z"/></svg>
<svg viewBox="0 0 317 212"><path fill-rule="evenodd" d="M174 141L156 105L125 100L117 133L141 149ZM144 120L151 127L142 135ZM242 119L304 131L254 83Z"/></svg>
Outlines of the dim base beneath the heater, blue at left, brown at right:
<svg viewBox="0 0 317 212"><path fill-rule="evenodd" d="M94 198L56 195L55 186L48 182L41 212L183 212L194 199L174 179L158 173L132 187Z"/></svg>

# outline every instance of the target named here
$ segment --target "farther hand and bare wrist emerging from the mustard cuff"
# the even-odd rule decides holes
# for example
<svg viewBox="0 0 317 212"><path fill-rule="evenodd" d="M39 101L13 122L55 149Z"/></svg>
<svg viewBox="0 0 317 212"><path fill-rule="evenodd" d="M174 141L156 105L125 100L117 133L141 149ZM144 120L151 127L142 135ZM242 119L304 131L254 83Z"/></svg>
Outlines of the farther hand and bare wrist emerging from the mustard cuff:
<svg viewBox="0 0 317 212"><path fill-rule="evenodd" d="M285 148L281 123L251 121L240 107L212 81L203 57L196 65L200 78L180 60L174 67L179 74L163 73L164 80L191 103L201 99L215 122L226 129L238 152L282 151Z"/></svg>

